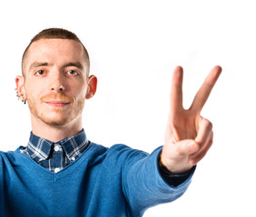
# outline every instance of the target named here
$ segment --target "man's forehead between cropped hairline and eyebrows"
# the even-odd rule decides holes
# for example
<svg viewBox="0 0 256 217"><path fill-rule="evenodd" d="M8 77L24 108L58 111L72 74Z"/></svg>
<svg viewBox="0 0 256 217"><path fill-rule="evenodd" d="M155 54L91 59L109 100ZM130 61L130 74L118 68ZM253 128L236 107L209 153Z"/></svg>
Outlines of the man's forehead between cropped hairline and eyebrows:
<svg viewBox="0 0 256 217"><path fill-rule="evenodd" d="M34 61L52 64L78 61L84 66L87 63L82 44L69 39L40 39L33 42L27 51L25 65L29 66Z"/></svg>

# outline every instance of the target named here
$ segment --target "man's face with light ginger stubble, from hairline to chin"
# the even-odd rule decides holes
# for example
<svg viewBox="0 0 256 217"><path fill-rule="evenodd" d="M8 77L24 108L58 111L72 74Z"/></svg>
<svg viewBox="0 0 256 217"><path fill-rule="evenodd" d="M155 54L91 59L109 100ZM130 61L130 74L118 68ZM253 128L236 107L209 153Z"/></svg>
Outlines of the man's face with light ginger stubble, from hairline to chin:
<svg viewBox="0 0 256 217"><path fill-rule="evenodd" d="M33 42L24 70L25 96L33 118L52 126L81 118L89 80L82 44L65 39Z"/></svg>

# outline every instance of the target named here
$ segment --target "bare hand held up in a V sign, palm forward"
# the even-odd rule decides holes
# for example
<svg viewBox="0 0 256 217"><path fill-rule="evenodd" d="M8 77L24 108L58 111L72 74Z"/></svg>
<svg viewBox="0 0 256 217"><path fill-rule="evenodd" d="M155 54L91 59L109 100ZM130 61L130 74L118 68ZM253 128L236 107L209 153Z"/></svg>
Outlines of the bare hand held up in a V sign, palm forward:
<svg viewBox="0 0 256 217"><path fill-rule="evenodd" d="M212 146L212 123L201 116L222 68L215 66L195 95L190 109L182 106L182 67L173 71L171 89L171 111L167 122L162 148L161 163L169 171L180 174L189 171L205 156Z"/></svg>

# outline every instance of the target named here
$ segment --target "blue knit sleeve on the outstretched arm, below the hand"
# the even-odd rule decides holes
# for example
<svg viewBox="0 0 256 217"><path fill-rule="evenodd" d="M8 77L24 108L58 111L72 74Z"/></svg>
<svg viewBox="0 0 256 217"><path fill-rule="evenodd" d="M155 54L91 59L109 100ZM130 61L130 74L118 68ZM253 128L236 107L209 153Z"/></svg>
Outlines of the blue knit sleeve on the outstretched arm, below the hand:
<svg viewBox="0 0 256 217"><path fill-rule="evenodd" d="M181 184L168 184L159 169L158 159L161 151L162 146L149 156L133 155L123 166L123 193L135 216L142 215L146 209L157 204L176 200L185 193L191 183L194 170Z"/></svg>

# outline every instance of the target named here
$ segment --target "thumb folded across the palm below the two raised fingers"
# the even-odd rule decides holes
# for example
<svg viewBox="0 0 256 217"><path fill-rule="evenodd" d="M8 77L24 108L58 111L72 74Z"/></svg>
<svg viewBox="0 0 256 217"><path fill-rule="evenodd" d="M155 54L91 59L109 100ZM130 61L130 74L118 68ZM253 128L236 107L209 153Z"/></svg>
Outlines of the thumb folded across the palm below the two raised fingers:
<svg viewBox="0 0 256 217"><path fill-rule="evenodd" d="M199 145L192 139L184 139L174 144L177 156L190 156L199 150Z"/></svg>

